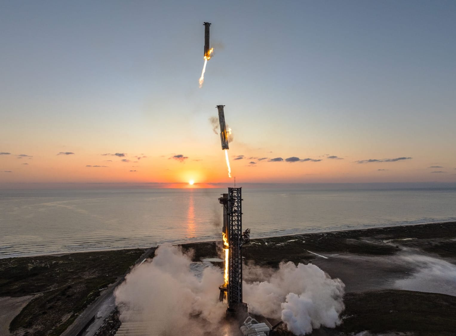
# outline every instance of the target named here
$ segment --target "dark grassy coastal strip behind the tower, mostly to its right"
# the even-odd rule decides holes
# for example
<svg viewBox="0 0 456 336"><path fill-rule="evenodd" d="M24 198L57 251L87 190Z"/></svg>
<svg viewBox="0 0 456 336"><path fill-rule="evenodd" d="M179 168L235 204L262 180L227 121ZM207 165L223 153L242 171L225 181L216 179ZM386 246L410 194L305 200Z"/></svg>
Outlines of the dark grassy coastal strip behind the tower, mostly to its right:
<svg viewBox="0 0 456 336"><path fill-rule="evenodd" d="M411 240L399 239L413 238ZM383 241L391 240L389 243ZM280 261L308 262L316 253L393 255L401 247L421 248L446 258L456 258L456 222L382 227L365 230L309 233L296 236L252 239L243 247L243 256L255 264L278 267ZM193 261L218 255L214 242L181 245L193 251Z"/></svg>

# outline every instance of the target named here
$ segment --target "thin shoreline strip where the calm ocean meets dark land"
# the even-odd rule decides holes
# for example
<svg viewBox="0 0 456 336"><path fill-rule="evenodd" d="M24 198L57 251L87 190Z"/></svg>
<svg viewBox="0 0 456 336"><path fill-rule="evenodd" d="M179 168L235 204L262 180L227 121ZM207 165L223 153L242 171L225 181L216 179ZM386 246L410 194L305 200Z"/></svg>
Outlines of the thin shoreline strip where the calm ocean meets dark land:
<svg viewBox="0 0 456 336"><path fill-rule="evenodd" d="M297 237L297 236L303 236L303 235L314 235L314 234L322 234L322 233L327 233L327 234L337 234L337 233L356 233L356 232L362 232L362 231L373 231L373 230L384 230L384 229L393 229L393 228L400 228L400 227L414 227L414 226L425 226L425 225L449 225L449 224L455 224L456 221L451 221L451 222L425 222L425 223L413 223L413 224L401 224L401 225L392 225L392 226L379 226L379 227L364 227L364 228L348 228L348 229L341 229L341 230L335 230L335 231L311 231L311 232L302 232L302 233L292 233L292 234L284 234L284 235L266 235L262 237L257 237L257 238L251 238L252 241L258 240L258 239L272 239L272 238L284 238L284 237ZM188 244L201 244L201 243L215 243L221 241L220 240L198 240L198 241L184 241L181 243L170 243L171 245L188 245ZM105 249L95 249L95 250L84 250L84 251L68 251L68 252L54 252L54 253L41 253L41 254L32 254L32 255L26 255L26 256L16 256L16 257L5 257L5 258L0 258L2 259L11 259L11 258L34 258L34 257L44 257L44 256L54 256L54 257L60 257L63 255L67 254L76 254L76 253L90 253L90 252L109 252L109 251L119 251L119 250L134 250L134 249L148 249L148 248L154 248L158 247L160 245L167 244L161 243L153 246L144 246L144 247L130 247L130 248L105 248Z"/></svg>

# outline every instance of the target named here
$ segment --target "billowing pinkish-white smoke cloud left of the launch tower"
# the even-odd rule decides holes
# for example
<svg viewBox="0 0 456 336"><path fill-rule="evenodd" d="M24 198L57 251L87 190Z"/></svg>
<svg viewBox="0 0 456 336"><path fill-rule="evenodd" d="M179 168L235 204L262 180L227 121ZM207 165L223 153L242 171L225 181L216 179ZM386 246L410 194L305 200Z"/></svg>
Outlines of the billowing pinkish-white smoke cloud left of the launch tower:
<svg viewBox="0 0 456 336"><path fill-rule="evenodd" d="M191 263L177 247L157 248L152 262L135 267L116 289L120 320L141 321L151 335L202 335L217 327L227 308L218 301L223 274L207 267L199 279Z"/></svg>

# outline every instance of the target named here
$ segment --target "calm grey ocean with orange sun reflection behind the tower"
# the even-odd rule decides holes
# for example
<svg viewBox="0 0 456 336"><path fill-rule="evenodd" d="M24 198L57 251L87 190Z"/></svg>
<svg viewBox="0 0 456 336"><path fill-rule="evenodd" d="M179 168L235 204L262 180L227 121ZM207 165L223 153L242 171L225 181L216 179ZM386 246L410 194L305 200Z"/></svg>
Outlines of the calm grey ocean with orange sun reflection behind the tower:
<svg viewBox="0 0 456 336"><path fill-rule="evenodd" d="M0 191L0 258L220 240L226 188ZM456 189L243 188L252 238L456 221Z"/></svg>

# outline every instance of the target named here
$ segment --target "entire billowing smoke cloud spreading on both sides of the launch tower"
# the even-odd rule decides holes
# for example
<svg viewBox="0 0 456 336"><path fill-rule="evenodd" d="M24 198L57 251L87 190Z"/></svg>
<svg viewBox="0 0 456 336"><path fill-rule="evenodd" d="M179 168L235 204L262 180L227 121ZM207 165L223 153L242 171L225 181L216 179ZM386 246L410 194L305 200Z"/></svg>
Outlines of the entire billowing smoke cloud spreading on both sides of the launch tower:
<svg viewBox="0 0 456 336"><path fill-rule="evenodd" d="M218 301L221 269L207 267L197 276L191 258L163 245L155 258L136 266L115 290L122 322L138 321L150 335L217 333L227 305ZM249 311L282 319L295 335L320 326L335 327L344 305L344 284L313 264L281 263L278 270L248 265L244 302Z"/></svg>

